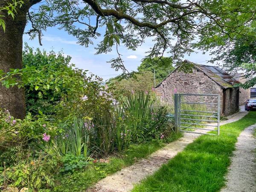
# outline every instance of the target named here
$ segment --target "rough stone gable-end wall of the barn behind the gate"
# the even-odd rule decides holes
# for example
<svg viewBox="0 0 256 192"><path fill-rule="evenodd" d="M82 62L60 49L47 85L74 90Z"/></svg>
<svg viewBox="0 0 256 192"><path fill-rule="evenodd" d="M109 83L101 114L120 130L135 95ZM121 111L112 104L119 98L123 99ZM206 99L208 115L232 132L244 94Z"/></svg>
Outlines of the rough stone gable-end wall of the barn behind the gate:
<svg viewBox="0 0 256 192"><path fill-rule="evenodd" d="M163 101L174 105L174 93L192 93L192 94L220 94L222 111L222 89L204 73L193 70L193 73L183 73L177 70L163 81L155 89ZM183 96L185 102L207 102L217 103L215 96ZM216 105L203 105L209 110L216 111Z"/></svg>

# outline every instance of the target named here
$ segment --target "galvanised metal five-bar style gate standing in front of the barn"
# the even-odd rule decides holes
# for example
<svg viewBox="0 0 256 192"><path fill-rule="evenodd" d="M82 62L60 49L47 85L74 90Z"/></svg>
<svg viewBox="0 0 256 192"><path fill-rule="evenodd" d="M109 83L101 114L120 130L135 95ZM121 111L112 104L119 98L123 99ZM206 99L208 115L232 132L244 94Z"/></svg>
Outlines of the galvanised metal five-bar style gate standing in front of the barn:
<svg viewBox="0 0 256 192"><path fill-rule="evenodd" d="M216 97L218 102L182 102L183 97L186 96L211 96ZM208 135L219 135L220 134L220 95L219 94L175 94L175 131L194 133L194 134L208 134ZM215 111L197 111L197 110L186 110L182 109L182 104L198 104L198 105L208 105L214 106ZM196 114L191 114L191 113ZM202 114L202 115L201 115ZM206 115L207 114L207 115ZM209 115L208 115L209 114ZM189 116L188 118L184 118ZM196 119L192 119L195 117ZM211 119L207 119L211 118ZM199 122L199 123L198 123ZM200 123L201 122L201 123ZM207 123L215 123L217 125L207 125ZM193 125L197 127L192 127ZM207 126L210 128L199 128L199 126ZM217 129L216 129L217 128ZM198 131L188 131L188 129L196 129ZM216 131L216 134L207 133L209 131Z"/></svg>

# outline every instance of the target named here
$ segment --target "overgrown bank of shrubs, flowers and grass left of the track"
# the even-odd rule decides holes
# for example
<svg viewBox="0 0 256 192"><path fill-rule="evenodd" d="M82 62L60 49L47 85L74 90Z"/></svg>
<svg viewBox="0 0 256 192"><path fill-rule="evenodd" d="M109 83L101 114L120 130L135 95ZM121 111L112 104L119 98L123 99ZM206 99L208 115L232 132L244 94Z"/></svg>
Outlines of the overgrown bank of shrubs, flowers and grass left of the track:
<svg viewBox="0 0 256 192"><path fill-rule="evenodd" d="M180 137L152 91L118 95L62 53L26 47L23 58L2 81L26 90L27 115L0 111L1 189L81 191Z"/></svg>

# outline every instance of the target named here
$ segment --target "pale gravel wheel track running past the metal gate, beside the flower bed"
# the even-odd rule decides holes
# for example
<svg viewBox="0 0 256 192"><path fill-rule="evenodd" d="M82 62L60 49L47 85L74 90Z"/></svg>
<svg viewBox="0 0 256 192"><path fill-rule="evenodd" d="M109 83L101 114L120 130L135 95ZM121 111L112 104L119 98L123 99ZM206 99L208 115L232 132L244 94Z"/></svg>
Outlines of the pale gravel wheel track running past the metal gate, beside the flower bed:
<svg viewBox="0 0 256 192"><path fill-rule="evenodd" d="M241 119L247 111L236 113L220 124L224 125ZM212 127L209 127L212 128ZM204 130L200 130L203 132ZM205 131L204 131L205 132ZM178 152L189 143L192 143L199 134L184 133L184 136L177 141L167 144L164 148L154 152L147 159L140 160L132 166L126 167L113 175L105 177L96 183L93 188L87 189L87 192L128 192L133 189L134 184L139 183L148 175L157 171L163 163L175 157ZM215 136L212 136L215 137Z"/></svg>

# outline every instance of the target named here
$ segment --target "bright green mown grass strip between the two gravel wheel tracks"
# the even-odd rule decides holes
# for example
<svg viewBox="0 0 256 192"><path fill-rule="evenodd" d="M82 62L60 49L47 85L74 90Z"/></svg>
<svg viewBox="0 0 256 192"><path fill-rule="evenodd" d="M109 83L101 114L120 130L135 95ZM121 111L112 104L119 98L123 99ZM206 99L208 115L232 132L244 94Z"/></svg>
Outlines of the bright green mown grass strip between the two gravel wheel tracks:
<svg viewBox="0 0 256 192"><path fill-rule="evenodd" d="M204 135L147 177L132 192L216 192L225 184L237 137L256 123L256 112L221 126L219 136Z"/></svg>

